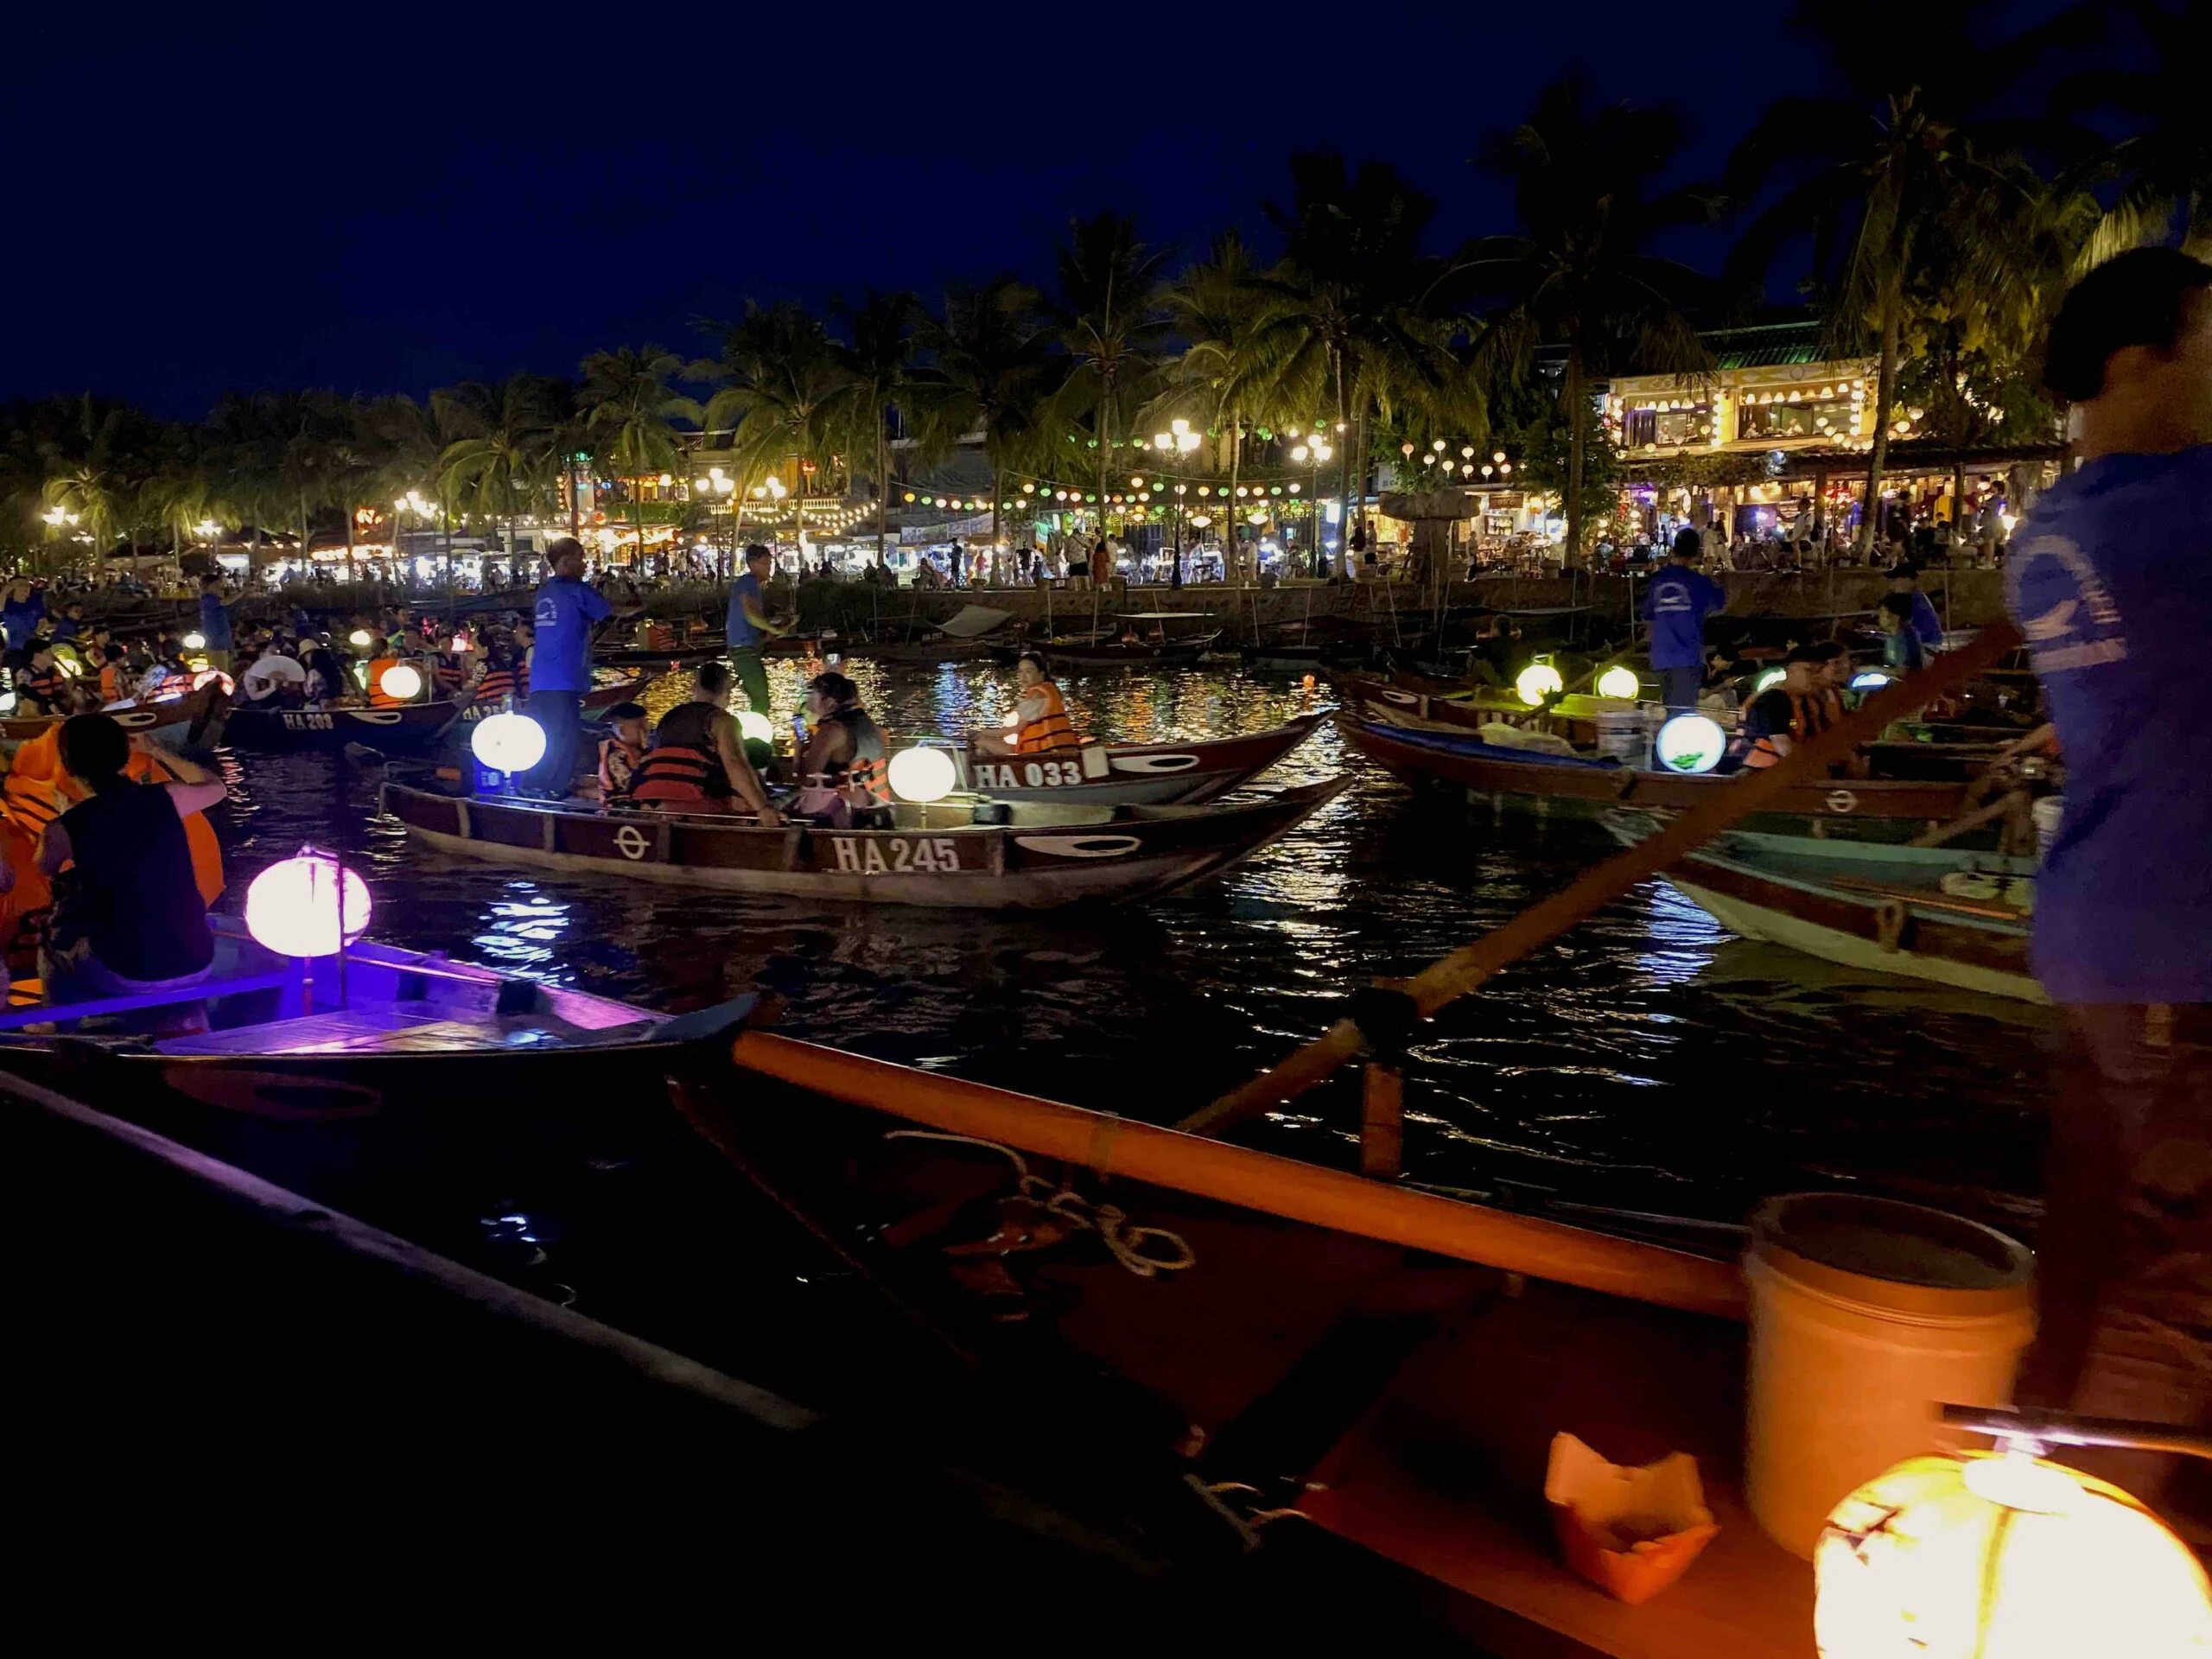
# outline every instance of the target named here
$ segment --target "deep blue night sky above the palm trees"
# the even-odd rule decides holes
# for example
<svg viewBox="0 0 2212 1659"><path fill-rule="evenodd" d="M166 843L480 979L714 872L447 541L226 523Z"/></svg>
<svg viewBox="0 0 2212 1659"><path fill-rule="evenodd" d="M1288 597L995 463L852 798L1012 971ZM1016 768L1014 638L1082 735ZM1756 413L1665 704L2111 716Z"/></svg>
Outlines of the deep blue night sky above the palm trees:
<svg viewBox="0 0 2212 1659"><path fill-rule="evenodd" d="M177 418L226 387L688 356L745 296L1042 281L1066 221L1108 208L1181 246L1243 221L1272 252L1256 204L1298 148L1398 164L1444 248L1506 228L1467 157L1568 66L1677 100L1686 173L1818 84L1781 4L1734 0L108 15L11 20L0 396Z"/></svg>

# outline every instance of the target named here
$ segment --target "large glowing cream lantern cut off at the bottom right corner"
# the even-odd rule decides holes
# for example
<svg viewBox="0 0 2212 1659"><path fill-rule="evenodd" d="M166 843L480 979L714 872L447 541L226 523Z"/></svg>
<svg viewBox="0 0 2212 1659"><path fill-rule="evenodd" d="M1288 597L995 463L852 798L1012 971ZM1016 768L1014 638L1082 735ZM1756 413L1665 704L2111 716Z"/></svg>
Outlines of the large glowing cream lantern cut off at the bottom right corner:
<svg viewBox="0 0 2212 1659"><path fill-rule="evenodd" d="M2017 1451L1911 1458L1812 1557L1823 1659L2212 1652L2212 1584L2119 1486Z"/></svg>

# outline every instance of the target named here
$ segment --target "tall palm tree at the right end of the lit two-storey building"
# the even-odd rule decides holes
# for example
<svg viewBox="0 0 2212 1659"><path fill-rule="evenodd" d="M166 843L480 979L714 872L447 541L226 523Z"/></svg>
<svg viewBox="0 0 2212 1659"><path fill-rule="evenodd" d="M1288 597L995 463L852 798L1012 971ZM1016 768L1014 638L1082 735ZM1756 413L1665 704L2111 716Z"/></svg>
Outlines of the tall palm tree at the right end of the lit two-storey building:
<svg viewBox="0 0 2212 1659"><path fill-rule="evenodd" d="M1787 181L1745 230L1732 274L1763 276L1785 246L1809 234L1829 349L1874 341L1863 546L1880 518L1898 365L1931 246L1942 239L1958 254L1951 281L1969 303L1975 294L2006 294L2022 274L2008 268L2013 239L1958 228L1971 221L1986 232L2042 210L2039 181L2020 161L2022 126L1975 117L2033 60L2095 27L2090 13L2070 11L1986 42L1982 11L1986 0L1798 0L1792 24L1823 44L1845 95L1778 100L1730 161L1730 195L1739 199L1752 199L1776 175ZM1902 38L1911 38L1911 51L1896 49Z"/></svg>

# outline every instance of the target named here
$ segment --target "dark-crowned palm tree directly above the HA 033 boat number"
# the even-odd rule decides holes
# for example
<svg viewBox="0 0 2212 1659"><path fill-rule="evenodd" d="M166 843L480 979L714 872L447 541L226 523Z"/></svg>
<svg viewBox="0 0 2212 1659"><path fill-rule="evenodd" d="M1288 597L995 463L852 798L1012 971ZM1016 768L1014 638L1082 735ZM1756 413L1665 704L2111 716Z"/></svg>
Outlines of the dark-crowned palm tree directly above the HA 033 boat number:
<svg viewBox="0 0 2212 1659"><path fill-rule="evenodd" d="M931 358L916 376L925 447L949 449L971 431L982 434L991 462L991 540L998 542L1000 480L1024 449L1037 447L1040 414L1060 376L1042 301L1011 276L956 288L945 294L945 316L929 319L918 341Z"/></svg>

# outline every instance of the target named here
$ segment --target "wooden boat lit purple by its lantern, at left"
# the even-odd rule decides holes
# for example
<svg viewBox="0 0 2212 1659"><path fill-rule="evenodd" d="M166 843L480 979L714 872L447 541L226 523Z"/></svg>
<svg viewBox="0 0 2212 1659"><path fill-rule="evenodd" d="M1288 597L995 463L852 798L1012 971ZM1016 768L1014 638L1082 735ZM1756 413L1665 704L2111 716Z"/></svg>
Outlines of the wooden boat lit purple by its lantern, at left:
<svg viewBox="0 0 2212 1659"><path fill-rule="evenodd" d="M743 998L668 1018L369 942L347 947L343 967L301 962L259 947L237 918L210 922L217 958L204 984L13 1004L0 1013L0 1066L195 1146L372 1115L407 1117L422 1133L498 1135L522 1102L602 1091L635 1102L639 1079L719 1060L752 1011ZM126 1020L157 1024L186 1002L206 1004L208 1031L106 1035Z"/></svg>

